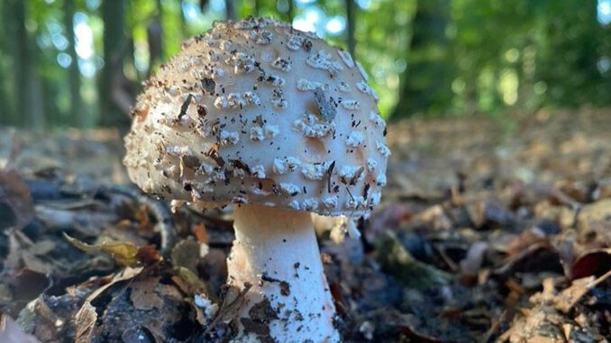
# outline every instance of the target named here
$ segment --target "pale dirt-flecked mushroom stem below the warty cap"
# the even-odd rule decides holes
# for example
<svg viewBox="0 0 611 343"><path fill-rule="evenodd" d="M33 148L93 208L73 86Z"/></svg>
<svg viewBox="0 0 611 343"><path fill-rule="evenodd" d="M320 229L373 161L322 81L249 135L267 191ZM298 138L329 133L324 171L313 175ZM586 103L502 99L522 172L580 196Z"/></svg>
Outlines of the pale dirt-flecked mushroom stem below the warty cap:
<svg viewBox="0 0 611 343"><path fill-rule="evenodd" d="M310 213L242 204L235 208L233 228L228 284L252 285L240 311L238 340L339 342Z"/></svg>

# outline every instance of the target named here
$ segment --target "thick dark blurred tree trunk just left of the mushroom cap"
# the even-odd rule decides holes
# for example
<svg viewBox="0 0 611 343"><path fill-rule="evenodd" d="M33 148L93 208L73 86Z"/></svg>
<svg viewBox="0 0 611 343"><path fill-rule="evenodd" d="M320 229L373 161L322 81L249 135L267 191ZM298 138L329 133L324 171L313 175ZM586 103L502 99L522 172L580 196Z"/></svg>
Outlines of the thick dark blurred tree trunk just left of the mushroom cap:
<svg viewBox="0 0 611 343"><path fill-rule="evenodd" d="M123 32L124 5L122 1L103 1L105 66L100 76L100 122L103 126L127 127L129 117L114 100L122 92L123 57L126 40Z"/></svg>

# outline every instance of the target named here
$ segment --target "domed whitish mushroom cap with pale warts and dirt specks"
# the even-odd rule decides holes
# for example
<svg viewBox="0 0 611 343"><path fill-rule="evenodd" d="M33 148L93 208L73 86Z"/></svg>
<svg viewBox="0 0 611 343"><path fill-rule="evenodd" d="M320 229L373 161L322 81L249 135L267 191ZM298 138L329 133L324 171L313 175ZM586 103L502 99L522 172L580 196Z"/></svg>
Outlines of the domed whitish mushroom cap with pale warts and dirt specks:
<svg viewBox="0 0 611 343"><path fill-rule="evenodd" d="M360 216L386 184L364 70L287 23L215 23L146 82L132 115L124 164L164 198Z"/></svg>

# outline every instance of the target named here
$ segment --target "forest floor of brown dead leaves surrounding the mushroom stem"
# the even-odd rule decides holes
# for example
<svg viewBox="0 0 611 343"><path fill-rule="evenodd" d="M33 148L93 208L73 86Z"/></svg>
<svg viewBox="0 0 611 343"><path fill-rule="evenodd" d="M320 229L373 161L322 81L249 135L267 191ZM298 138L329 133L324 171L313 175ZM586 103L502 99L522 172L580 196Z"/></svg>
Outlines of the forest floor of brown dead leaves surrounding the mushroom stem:
<svg viewBox="0 0 611 343"><path fill-rule="evenodd" d="M588 109L390 123L361 238L319 224L344 340L611 341L609 132ZM0 342L228 337L231 209L172 214L122 155L114 132L0 129Z"/></svg>

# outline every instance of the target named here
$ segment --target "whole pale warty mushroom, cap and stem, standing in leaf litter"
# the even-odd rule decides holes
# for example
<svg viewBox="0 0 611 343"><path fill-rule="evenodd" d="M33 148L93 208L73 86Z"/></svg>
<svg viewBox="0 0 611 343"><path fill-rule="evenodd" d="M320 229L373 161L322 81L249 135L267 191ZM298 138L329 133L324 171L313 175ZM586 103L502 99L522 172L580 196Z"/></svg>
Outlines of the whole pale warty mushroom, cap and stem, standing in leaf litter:
<svg viewBox="0 0 611 343"><path fill-rule="evenodd" d="M368 216L390 151L348 52L272 19L219 22L145 83L124 164L144 192L234 205L238 341L337 342L311 212ZM271 339L271 340L270 340Z"/></svg>

